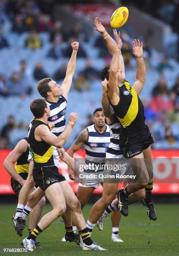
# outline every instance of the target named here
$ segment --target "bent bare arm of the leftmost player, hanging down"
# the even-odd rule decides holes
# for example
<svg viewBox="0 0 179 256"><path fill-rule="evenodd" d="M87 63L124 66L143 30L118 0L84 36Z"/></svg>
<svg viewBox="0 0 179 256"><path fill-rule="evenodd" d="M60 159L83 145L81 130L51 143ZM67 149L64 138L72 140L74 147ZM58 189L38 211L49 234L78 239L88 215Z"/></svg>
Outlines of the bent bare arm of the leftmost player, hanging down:
<svg viewBox="0 0 179 256"><path fill-rule="evenodd" d="M28 142L26 140L21 140L15 146L13 151L6 157L3 166L5 167L8 174L10 174L13 179L20 183L21 186L24 185L25 180L16 172L14 163L19 159L19 157L25 153L28 147Z"/></svg>

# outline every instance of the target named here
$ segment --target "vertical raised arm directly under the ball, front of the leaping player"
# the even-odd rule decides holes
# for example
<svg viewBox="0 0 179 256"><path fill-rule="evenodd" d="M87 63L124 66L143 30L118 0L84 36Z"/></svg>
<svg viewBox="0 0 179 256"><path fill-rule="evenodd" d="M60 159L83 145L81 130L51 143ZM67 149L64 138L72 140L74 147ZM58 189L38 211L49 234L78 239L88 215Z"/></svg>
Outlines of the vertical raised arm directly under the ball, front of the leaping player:
<svg viewBox="0 0 179 256"><path fill-rule="evenodd" d="M118 58L121 52L121 38L120 32L117 34L116 30L114 30L114 35L117 41L117 47L115 54L113 55L110 69L109 69L109 81L108 81L108 98L113 105L117 105L119 102L119 89L118 89L118 81L117 81L117 72L118 72Z"/></svg>

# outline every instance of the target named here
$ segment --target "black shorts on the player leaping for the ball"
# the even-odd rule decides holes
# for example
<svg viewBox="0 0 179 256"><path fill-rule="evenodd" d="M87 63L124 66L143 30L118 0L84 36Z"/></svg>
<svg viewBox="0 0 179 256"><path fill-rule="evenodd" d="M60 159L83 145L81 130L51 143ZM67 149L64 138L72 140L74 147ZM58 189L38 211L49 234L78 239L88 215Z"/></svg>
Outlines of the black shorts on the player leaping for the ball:
<svg viewBox="0 0 179 256"><path fill-rule="evenodd" d="M122 154L126 159L130 159L142 153L142 151L148 148L154 143L153 137L149 131L147 125L144 126L144 130L135 137L125 137L120 135L119 146Z"/></svg>

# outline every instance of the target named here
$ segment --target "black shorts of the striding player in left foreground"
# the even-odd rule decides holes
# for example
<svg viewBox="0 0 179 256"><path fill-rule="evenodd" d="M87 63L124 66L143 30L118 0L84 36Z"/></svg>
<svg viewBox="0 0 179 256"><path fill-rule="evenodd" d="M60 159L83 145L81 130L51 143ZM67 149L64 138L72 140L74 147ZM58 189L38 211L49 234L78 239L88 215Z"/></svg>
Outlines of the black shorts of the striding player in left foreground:
<svg viewBox="0 0 179 256"><path fill-rule="evenodd" d="M33 167L33 179L36 185L43 191L56 182L66 180L66 178L58 172L58 168L55 165L47 167Z"/></svg>

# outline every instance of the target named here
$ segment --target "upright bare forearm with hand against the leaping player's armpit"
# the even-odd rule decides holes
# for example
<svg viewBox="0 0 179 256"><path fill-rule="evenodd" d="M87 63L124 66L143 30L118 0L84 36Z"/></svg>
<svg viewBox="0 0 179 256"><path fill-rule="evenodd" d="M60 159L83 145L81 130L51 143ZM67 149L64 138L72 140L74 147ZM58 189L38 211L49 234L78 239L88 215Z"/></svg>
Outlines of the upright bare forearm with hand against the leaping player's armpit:
<svg viewBox="0 0 179 256"><path fill-rule="evenodd" d="M114 112L110 106L110 102L108 99L108 80L105 78L104 81L102 81L102 96L101 96L101 105L103 108L103 113L106 117L107 122L113 123L114 120Z"/></svg>

